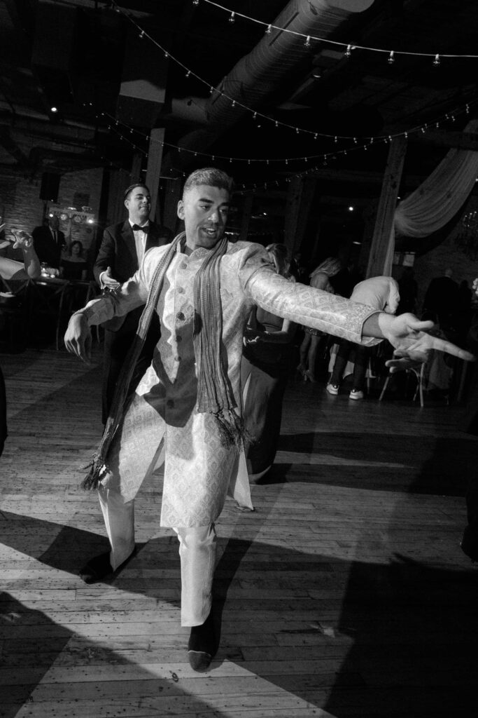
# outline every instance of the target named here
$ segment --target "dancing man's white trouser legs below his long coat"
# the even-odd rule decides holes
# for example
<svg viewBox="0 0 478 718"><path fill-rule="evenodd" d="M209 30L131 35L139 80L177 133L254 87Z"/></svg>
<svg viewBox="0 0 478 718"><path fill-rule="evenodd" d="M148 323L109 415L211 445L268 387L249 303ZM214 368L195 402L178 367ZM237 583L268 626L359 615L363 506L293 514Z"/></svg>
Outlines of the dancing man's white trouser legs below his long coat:
<svg viewBox="0 0 478 718"><path fill-rule="evenodd" d="M118 491L100 488L100 506L110 539L113 570L135 548L135 502L125 501ZM212 579L216 566L216 531L208 526L174 527L181 559L181 625L204 623L211 610Z"/></svg>

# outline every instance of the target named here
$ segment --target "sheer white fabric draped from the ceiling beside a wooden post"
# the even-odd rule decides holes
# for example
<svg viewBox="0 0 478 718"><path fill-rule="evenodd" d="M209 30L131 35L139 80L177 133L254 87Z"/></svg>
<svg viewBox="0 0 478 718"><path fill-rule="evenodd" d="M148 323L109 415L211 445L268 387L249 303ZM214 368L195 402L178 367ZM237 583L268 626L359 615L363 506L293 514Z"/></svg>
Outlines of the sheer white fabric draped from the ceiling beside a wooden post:
<svg viewBox="0 0 478 718"><path fill-rule="evenodd" d="M478 120L464 132L475 132ZM395 210L383 274L391 274L395 236L427 237L446 225L469 197L478 177L478 152L451 149L434 172Z"/></svg>

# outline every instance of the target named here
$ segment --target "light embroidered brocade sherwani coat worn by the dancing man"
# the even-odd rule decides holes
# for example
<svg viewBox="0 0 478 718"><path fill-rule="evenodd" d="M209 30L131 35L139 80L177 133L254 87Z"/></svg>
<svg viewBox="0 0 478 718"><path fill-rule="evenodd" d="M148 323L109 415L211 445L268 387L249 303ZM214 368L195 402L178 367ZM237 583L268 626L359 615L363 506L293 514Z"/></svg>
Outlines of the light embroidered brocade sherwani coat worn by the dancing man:
<svg viewBox="0 0 478 718"><path fill-rule="evenodd" d="M143 304L158 261L167 250L151 249L117 294L89 302L82 310L88 324L100 324ZM102 482L119 490L125 501L131 500L148 472L164 460L161 526L214 523L228 488L236 497L242 491L239 503L247 503L244 491L248 494L248 487L237 481L238 472L247 476L239 471L244 469L244 454L238 456L223 447L214 416L196 410L193 284L209 251L198 248L186 256L178 246L166 270L156 307L161 339L110 446L108 474ZM363 322L376 312L373 307L287 281L275 273L264 248L257 244L229 244L221 258L220 278L222 341L238 411L242 337L254 304L297 324L358 343L364 343Z"/></svg>

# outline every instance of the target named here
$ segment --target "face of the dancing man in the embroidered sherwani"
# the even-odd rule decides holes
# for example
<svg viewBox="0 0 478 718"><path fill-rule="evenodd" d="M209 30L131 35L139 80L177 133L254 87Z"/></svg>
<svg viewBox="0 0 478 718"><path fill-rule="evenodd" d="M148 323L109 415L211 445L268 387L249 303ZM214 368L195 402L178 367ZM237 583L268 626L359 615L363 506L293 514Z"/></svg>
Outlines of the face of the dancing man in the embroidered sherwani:
<svg viewBox="0 0 478 718"><path fill-rule="evenodd" d="M186 245L210 249L224 235L229 192L219 187L197 185L186 192L178 202L178 217L184 220Z"/></svg>

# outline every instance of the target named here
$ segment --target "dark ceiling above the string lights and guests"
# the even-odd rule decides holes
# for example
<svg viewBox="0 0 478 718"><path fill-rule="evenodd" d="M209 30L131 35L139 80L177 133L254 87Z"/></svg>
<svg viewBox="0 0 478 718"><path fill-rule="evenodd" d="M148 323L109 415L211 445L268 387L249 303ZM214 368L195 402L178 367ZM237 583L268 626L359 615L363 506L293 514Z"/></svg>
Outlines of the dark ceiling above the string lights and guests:
<svg viewBox="0 0 478 718"><path fill-rule="evenodd" d="M376 182L383 172L387 136L407 131L405 177L416 182L449 146L464 141L459 133L477 111L478 60L433 60L436 53L478 51L478 3L355 4L368 9L349 13L343 9L352 0L331 1L336 17L332 23L325 18L322 27L320 13L328 8L322 0L224 0L228 11L206 0L118 6L0 0L0 167L30 174L98 165L129 169L138 152L145 166L148 134L164 127L163 164L171 176L216 164L246 186L273 187L317 167L326 182L333 172L348 176L360 195L368 187L363 173ZM329 42L311 39L306 47L307 39L297 37L267 65L267 52L285 34L264 34L264 24L274 25L281 13L282 22L287 13L296 22L301 7L318 22L312 36ZM229 22L231 12L249 19ZM388 52L358 48L347 57L347 45L393 49L394 62ZM242 81L247 63L239 75L230 73L252 52L249 64L258 79L251 84L249 78L248 85ZM230 79L224 84L224 78ZM221 88L227 98L219 96ZM465 139L474 149L475 138ZM363 182L356 180L360 173ZM340 187L336 191L340 195Z"/></svg>

